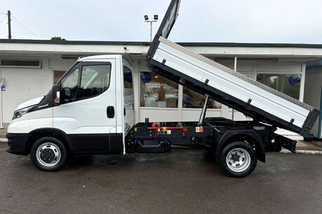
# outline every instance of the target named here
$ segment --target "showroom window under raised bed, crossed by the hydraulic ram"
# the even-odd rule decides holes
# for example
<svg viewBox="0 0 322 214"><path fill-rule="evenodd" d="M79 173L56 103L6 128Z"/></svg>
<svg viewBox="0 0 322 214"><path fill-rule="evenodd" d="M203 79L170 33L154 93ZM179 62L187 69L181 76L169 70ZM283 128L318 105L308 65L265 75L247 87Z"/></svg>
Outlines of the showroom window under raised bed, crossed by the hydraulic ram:
<svg viewBox="0 0 322 214"><path fill-rule="evenodd" d="M183 87L182 107L183 108L203 108L206 96L199 94L187 87ZM213 99L208 100L207 108L222 108L222 104Z"/></svg>

